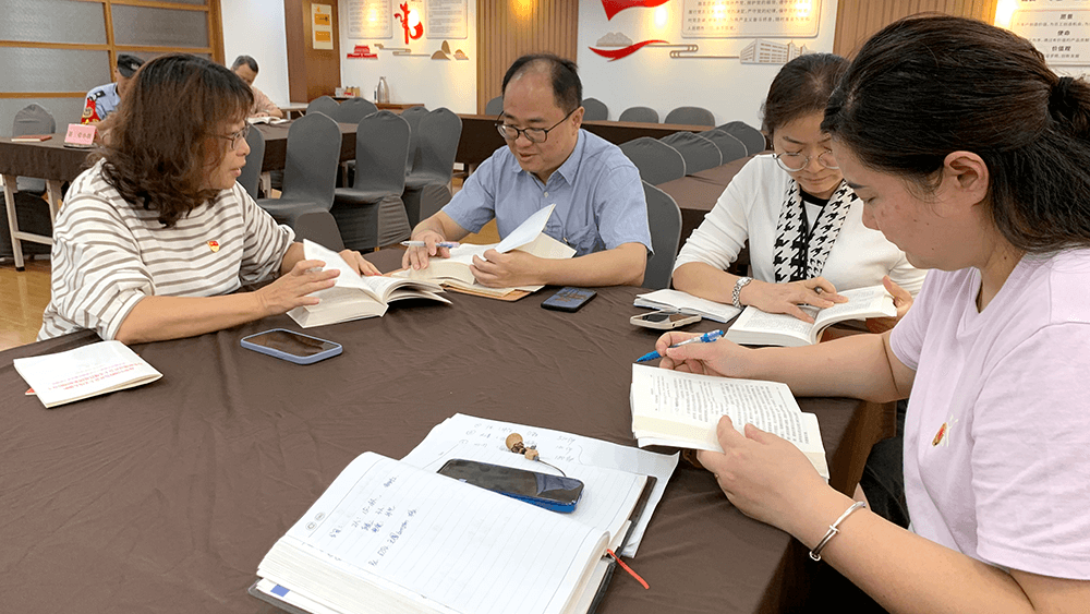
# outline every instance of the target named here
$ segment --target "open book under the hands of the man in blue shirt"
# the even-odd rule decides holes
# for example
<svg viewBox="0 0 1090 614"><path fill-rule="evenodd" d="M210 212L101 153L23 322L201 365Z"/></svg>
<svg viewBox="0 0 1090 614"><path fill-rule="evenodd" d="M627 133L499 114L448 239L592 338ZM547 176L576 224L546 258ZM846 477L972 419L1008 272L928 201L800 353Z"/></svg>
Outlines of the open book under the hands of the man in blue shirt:
<svg viewBox="0 0 1090 614"><path fill-rule="evenodd" d="M473 256L484 258L484 253L488 250L496 250L501 254L519 250L541 258L570 258L576 255L576 250L542 232L549 216L553 215L554 208L555 205L549 205L530 216L499 243L488 245L463 243L450 250L449 258L432 257L427 261L427 268L419 270L407 268L393 275L409 279L431 279L450 288L486 297L506 297L519 291L528 293L541 290L544 286L519 286L516 288L482 286L473 277L470 265L473 264Z"/></svg>

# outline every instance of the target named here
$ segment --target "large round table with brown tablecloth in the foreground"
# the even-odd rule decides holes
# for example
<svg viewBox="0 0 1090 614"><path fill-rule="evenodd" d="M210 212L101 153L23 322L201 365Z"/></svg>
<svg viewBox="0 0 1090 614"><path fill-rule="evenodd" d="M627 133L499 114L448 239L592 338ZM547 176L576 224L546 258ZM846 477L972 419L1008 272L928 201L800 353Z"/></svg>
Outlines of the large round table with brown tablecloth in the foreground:
<svg viewBox="0 0 1090 614"><path fill-rule="evenodd" d="M368 254L380 269L400 251ZM274 542L358 455L400 458L457 413L634 445L631 364L657 333L629 324L640 288L600 288L577 313L449 293L307 333L344 346L298 365L240 346L287 316L134 345L162 373L142 387L44 409L12 365L98 340L90 332L0 352L0 594L5 611L276 610L246 593ZM702 322L690 329L716 325ZM800 398L818 414L831 483L851 492L892 408ZM548 450L541 450L543 457ZM597 612L780 612L823 564L744 517L711 473L679 463L637 556Z"/></svg>

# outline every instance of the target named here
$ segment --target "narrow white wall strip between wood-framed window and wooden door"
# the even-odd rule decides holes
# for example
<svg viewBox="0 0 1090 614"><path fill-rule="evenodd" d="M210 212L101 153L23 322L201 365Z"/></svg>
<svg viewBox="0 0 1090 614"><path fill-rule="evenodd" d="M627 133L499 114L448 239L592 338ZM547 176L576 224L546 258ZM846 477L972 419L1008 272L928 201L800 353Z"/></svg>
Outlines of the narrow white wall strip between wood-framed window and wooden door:
<svg viewBox="0 0 1090 614"><path fill-rule="evenodd" d="M220 0L220 8L227 65L239 56L253 56L261 69L254 85L274 103L287 104L288 43L283 0Z"/></svg>

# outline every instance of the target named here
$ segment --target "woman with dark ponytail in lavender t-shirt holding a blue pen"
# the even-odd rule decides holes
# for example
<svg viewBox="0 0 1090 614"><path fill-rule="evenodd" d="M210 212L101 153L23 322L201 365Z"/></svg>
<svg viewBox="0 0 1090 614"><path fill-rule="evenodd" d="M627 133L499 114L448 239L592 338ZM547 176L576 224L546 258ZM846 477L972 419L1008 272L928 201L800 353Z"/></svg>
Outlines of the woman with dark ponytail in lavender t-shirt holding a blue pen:
<svg viewBox="0 0 1090 614"><path fill-rule="evenodd" d="M667 349L663 366L799 396L911 401L911 531L837 493L789 443L729 419L701 453L727 497L897 612L1090 603L1090 86L1032 45L948 16L869 40L823 130L863 221L928 275L883 335ZM740 425L739 425L740 426ZM834 528L835 527L835 528Z"/></svg>

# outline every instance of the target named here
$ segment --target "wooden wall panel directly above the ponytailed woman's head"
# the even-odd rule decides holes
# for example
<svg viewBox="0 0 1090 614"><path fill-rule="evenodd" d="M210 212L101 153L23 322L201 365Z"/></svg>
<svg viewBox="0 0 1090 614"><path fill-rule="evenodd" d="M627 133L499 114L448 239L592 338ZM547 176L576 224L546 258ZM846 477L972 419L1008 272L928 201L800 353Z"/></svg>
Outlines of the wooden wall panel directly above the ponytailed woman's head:
<svg viewBox="0 0 1090 614"><path fill-rule="evenodd" d="M839 0L833 52L851 58L874 33L917 13L937 12L995 21L998 0Z"/></svg>

